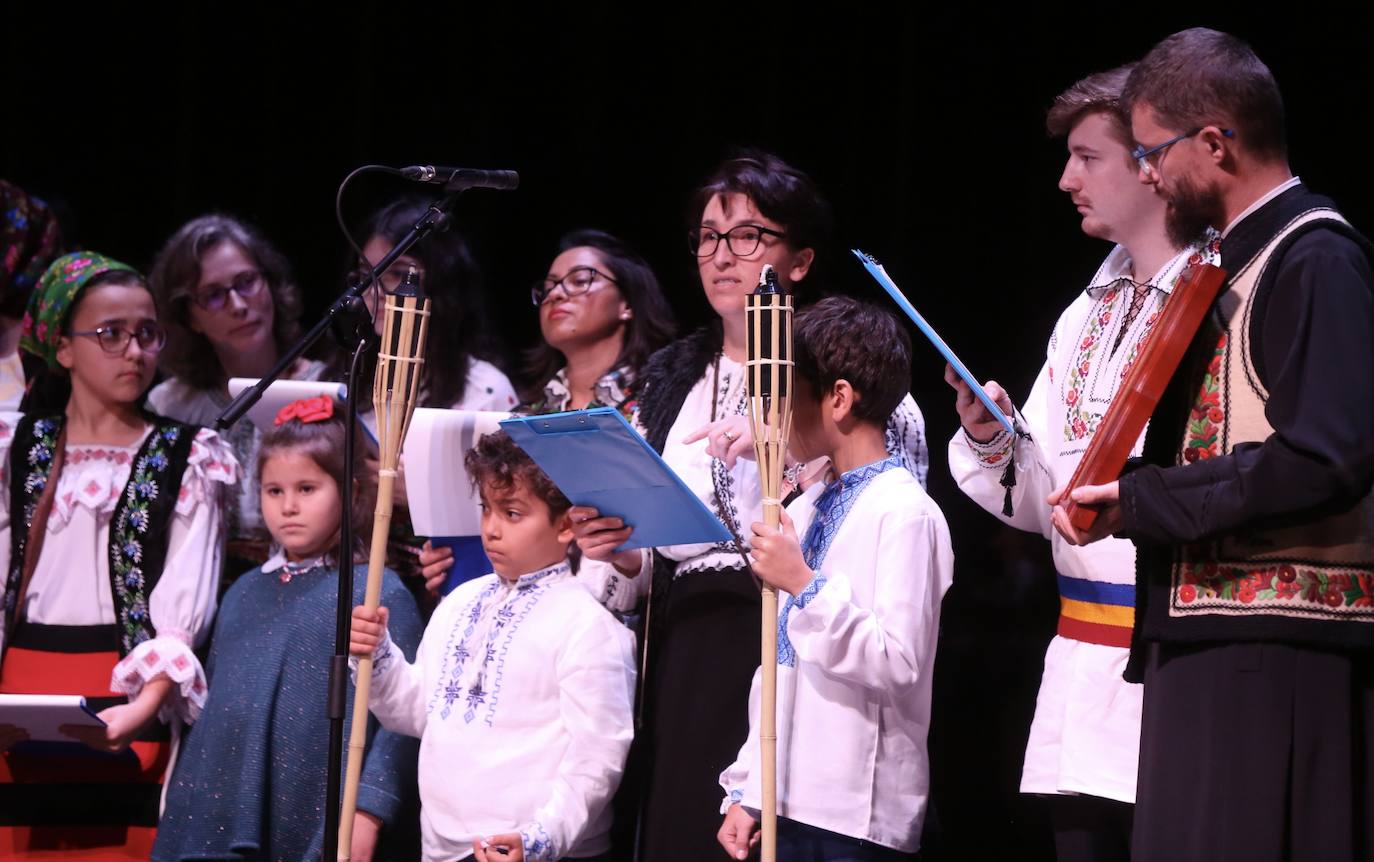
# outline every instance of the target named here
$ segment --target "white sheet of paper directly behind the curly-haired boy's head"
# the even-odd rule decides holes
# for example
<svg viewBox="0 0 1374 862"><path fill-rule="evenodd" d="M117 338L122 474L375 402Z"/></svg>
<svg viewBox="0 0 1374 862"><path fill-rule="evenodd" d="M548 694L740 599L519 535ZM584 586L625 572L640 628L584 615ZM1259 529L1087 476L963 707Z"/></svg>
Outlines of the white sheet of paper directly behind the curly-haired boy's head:
<svg viewBox="0 0 1374 862"><path fill-rule="evenodd" d="M508 412L419 407L411 418L401 454L411 525L419 536L481 533L481 505L463 469L477 441L500 430Z"/></svg>

